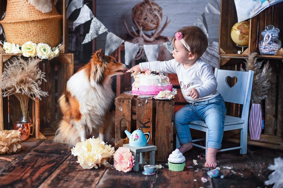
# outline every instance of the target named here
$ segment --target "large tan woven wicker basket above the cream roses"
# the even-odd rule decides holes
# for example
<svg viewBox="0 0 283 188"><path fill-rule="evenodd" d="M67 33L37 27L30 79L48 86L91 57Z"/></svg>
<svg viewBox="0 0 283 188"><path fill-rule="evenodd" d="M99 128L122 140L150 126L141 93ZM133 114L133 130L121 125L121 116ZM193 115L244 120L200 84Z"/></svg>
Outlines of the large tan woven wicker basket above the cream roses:
<svg viewBox="0 0 283 188"><path fill-rule="evenodd" d="M52 11L42 13L27 0L8 0L6 16L0 21L7 42L22 45L27 41L57 46L62 37L62 20L54 3Z"/></svg>

